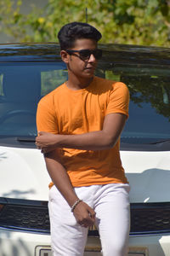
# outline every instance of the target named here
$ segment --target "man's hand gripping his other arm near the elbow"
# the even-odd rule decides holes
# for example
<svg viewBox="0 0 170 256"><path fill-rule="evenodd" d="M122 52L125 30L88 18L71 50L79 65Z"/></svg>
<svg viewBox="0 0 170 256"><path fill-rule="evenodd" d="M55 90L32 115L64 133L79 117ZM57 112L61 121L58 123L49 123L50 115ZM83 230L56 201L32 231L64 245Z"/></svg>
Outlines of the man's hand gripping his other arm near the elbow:
<svg viewBox="0 0 170 256"><path fill-rule="evenodd" d="M36 146L38 149L42 149L42 153L48 153L54 150L56 147L57 134L50 132L39 131L36 137Z"/></svg>

